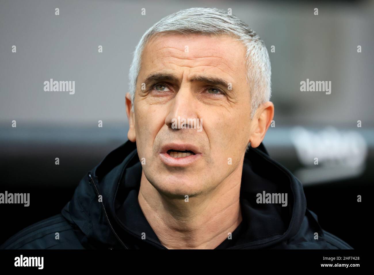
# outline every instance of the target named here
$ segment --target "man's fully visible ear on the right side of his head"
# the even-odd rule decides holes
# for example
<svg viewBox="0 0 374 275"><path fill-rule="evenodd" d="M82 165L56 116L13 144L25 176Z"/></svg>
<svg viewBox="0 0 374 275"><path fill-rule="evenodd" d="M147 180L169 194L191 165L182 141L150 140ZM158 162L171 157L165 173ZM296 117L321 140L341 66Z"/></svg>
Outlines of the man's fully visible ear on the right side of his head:
<svg viewBox="0 0 374 275"><path fill-rule="evenodd" d="M251 147L258 147L263 141L266 131L274 117L274 105L268 101L258 107L252 121L249 142Z"/></svg>

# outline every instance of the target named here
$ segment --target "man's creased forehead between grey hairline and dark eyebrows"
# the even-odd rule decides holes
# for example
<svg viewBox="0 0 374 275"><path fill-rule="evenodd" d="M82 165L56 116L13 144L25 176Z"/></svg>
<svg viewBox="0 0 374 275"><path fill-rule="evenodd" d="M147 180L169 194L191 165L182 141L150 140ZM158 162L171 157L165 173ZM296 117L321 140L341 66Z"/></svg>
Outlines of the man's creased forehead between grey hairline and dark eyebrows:
<svg viewBox="0 0 374 275"><path fill-rule="evenodd" d="M141 71L188 70L245 79L245 46L230 36L157 33L145 45ZM233 79L232 79L233 80Z"/></svg>

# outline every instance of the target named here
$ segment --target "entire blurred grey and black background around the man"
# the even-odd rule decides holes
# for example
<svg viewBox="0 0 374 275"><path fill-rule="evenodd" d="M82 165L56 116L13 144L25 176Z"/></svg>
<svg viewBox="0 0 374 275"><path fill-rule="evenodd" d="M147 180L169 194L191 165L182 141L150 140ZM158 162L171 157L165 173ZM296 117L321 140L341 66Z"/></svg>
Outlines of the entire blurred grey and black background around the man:
<svg viewBox="0 0 374 275"><path fill-rule="evenodd" d="M29 207L0 205L0 243L58 214L80 179L127 140L132 52L151 25L189 7L231 8L264 40L275 104L275 127L264 145L304 184L307 207L323 229L353 248L368 247L373 1L0 1L0 193L30 193ZM74 80L75 94L43 91L50 78ZM307 78L331 81L331 94L301 92ZM308 134L298 135L296 127ZM350 138L352 132L359 138ZM314 157L319 165L313 165Z"/></svg>

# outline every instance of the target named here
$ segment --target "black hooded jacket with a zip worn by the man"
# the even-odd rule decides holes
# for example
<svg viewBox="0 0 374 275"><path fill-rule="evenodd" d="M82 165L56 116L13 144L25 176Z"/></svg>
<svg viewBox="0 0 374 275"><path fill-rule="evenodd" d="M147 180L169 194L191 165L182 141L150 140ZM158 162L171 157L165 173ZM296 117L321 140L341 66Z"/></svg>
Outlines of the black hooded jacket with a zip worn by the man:
<svg viewBox="0 0 374 275"><path fill-rule="evenodd" d="M0 248L166 249L138 204L141 171L136 145L127 141L83 177L60 214L28 226ZM258 204L256 194L263 191L288 193L288 205ZM216 249L352 249L319 226L300 181L262 143L245 154L240 206L242 223Z"/></svg>

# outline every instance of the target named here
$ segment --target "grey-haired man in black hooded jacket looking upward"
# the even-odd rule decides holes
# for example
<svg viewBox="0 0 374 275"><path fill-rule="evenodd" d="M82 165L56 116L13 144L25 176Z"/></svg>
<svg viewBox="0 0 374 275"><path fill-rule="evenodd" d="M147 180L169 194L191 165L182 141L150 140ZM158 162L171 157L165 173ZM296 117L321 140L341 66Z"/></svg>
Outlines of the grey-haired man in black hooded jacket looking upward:
<svg viewBox="0 0 374 275"><path fill-rule="evenodd" d="M129 76L129 141L61 214L1 248L352 248L321 229L262 144L270 61L244 22L208 8L167 16L141 38Z"/></svg>

